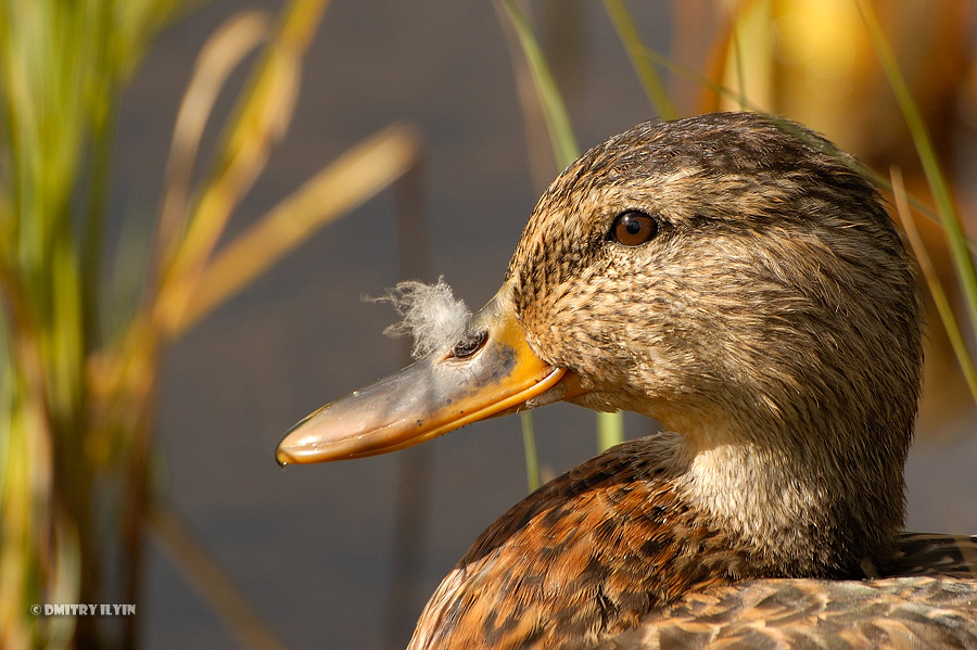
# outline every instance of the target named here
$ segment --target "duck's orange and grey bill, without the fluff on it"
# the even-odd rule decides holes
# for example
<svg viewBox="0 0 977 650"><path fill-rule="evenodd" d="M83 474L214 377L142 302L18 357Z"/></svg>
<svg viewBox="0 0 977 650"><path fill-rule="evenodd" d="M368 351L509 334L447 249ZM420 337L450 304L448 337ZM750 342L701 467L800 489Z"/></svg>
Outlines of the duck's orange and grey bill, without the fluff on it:
<svg viewBox="0 0 977 650"><path fill-rule="evenodd" d="M278 462L325 462L395 451L485 418L526 408L566 370L530 348L505 289L469 324L467 356L432 353L396 374L326 405L279 443ZM468 352L468 351L458 351ZM563 395L556 391L551 399Z"/></svg>

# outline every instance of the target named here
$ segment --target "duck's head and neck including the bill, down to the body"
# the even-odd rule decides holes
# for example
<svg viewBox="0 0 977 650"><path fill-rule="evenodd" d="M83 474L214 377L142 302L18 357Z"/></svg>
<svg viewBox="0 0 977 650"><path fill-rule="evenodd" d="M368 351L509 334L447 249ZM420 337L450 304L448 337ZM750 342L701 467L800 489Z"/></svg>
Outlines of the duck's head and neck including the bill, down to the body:
<svg viewBox="0 0 977 650"><path fill-rule="evenodd" d="M562 399L657 419L672 433L649 445L685 502L772 564L877 556L903 517L921 316L857 168L756 114L607 140L542 196L460 341L309 416L279 462L380 454Z"/></svg>

